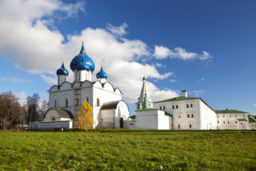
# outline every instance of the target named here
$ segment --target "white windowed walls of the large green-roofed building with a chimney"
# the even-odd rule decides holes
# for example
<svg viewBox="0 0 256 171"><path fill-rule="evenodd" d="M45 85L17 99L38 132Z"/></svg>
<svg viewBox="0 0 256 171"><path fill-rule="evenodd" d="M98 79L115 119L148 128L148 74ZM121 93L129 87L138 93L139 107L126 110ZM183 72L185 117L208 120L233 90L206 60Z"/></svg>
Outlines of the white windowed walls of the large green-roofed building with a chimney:
<svg viewBox="0 0 256 171"><path fill-rule="evenodd" d="M171 98L155 102L155 108L173 115L174 130L217 129L215 111L201 98Z"/></svg>

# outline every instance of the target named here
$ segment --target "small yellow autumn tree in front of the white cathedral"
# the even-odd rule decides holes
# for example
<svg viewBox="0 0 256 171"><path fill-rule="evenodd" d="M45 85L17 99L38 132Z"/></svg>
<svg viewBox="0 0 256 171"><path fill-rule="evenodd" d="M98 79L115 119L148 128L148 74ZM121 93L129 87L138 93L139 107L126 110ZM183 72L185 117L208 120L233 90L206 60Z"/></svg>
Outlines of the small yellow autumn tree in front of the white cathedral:
<svg viewBox="0 0 256 171"><path fill-rule="evenodd" d="M76 113L76 120L78 121L79 128L87 130L93 126L92 114L93 109L91 108L91 105L84 100Z"/></svg>

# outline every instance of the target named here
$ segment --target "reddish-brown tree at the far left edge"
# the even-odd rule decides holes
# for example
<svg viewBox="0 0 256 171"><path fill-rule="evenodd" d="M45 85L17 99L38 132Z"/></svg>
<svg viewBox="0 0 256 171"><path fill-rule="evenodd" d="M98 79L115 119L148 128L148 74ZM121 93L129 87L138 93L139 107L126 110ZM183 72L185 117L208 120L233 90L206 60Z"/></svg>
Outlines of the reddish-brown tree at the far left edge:
<svg viewBox="0 0 256 171"><path fill-rule="evenodd" d="M16 98L11 90L0 94L0 121L4 130L6 130L11 123L19 123L23 115L24 108L19 104L18 98Z"/></svg>

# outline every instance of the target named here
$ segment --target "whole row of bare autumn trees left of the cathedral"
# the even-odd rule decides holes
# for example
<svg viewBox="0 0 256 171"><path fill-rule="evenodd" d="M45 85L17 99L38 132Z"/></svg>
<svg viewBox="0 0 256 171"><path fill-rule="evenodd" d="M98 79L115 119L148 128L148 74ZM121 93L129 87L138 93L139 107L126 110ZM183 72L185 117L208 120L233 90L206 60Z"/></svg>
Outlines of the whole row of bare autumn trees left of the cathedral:
<svg viewBox="0 0 256 171"><path fill-rule="evenodd" d="M27 96L24 104L19 103L11 90L0 93L0 129L14 129L43 120L48 109L46 100L41 100L39 93Z"/></svg>

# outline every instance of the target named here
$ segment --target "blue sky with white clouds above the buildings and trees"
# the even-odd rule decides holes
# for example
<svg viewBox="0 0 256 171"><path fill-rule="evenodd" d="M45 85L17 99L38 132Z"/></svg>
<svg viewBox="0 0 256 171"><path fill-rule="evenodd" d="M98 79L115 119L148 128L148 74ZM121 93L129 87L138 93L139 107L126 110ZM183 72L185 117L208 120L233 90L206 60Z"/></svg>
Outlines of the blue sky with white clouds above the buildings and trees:
<svg viewBox="0 0 256 171"><path fill-rule="evenodd" d="M81 50L135 114L143 76L153 101L180 96L256 115L256 1L0 0L0 92L48 101L64 56Z"/></svg>

